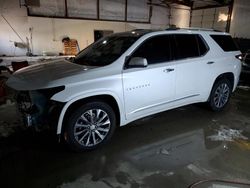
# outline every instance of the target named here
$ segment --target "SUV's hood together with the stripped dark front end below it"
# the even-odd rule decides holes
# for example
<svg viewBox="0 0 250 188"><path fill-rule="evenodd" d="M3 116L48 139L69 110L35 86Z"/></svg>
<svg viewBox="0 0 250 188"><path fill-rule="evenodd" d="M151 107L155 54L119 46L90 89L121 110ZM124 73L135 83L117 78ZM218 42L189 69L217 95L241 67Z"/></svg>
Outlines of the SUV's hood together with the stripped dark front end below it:
<svg viewBox="0 0 250 188"><path fill-rule="evenodd" d="M58 123L64 102L52 100L65 87L83 80L83 73L91 67L64 59L37 63L16 71L6 82L18 91L18 109L28 126L44 127Z"/></svg>

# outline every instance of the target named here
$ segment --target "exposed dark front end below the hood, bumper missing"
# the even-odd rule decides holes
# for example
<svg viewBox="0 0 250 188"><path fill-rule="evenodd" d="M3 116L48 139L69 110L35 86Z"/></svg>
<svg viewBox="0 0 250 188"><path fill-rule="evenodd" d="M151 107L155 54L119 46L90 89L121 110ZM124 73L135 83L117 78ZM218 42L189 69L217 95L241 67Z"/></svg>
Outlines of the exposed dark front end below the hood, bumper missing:
<svg viewBox="0 0 250 188"><path fill-rule="evenodd" d="M64 103L53 101L51 97L64 90L64 88L64 86L60 86L32 91L19 91L16 96L16 102L24 124L28 127L35 127L38 130L46 126L50 128L55 127Z"/></svg>

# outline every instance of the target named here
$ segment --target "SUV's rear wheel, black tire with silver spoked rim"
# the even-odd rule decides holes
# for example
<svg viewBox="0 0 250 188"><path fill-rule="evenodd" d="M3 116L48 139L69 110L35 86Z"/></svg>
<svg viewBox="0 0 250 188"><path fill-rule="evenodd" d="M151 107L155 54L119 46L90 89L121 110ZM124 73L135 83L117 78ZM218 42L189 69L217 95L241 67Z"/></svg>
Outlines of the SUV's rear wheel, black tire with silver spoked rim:
<svg viewBox="0 0 250 188"><path fill-rule="evenodd" d="M229 80L221 79L218 80L210 93L209 107L213 111L221 111L228 104L232 93L232 85Z"/></svg>

